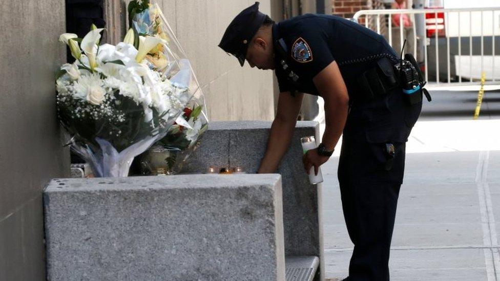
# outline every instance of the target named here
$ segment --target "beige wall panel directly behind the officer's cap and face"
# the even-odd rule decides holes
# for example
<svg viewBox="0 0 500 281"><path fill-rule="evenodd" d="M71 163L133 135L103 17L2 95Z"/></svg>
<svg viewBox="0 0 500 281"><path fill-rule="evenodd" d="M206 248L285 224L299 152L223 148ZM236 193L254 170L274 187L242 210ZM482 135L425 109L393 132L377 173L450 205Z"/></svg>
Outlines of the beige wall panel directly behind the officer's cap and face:
<svg viewBox="0 0 500 281"><path fill-rule="evenodd" d="M158 0L205 89L210 120L272 120L273 72L240 67L217 45L231 20L254 0ZM260 10L270 14L270 0Z"/></svg>

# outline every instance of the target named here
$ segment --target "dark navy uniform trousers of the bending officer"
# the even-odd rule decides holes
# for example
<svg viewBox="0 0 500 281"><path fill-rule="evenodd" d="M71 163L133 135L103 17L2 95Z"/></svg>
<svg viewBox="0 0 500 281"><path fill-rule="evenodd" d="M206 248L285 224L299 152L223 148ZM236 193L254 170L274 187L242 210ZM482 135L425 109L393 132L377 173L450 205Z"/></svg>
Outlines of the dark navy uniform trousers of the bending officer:
<svg viewBox="0 0 500 281"><path fill-rule="evenodd" d="M405 143L422 103L401 89L353 103L344 128L338 177L354 251L349 281L389 280L389 250L405 166ZM419 93L420 95L420 93ZM390 145L393 155L388 153Z"/></svg>

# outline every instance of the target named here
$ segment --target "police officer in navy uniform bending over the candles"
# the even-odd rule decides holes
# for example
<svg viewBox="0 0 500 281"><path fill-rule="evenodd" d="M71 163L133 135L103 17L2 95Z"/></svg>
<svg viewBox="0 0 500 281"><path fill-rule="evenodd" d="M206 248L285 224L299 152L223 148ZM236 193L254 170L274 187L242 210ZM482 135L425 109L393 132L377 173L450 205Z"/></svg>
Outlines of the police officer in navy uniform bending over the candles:
<svg viewBox="0 0 500 281"><path fill-rule="evenodd" d="M343 134L338 178L355 245L347 279L389 280L405 143L422 108L422 91L416 91L421 84L404 90L393 67L400 62L397 53L357 23L306 14L276 24L258 8L256 2L238 14L219 44L241 66L246 60L252 68L275 70L278 78L277 115L258 172L276 171L303 93L321 96L326 129L318 148L305 154L304 169L317 172Z"/></svg>

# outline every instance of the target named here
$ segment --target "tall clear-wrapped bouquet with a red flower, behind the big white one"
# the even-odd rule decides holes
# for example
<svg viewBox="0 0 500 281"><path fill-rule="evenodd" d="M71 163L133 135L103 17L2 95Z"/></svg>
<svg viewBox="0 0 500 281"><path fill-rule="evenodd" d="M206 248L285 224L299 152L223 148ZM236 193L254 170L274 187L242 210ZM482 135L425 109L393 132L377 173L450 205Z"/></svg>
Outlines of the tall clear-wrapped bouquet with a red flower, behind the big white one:
<svg viewBox="0 0 500 281"><path fill-rule="evenodd" d="M168 42L177 42L173 32L165 20L161 9L149 0L133 0L129 3L129 24L136 36L154 36ZM182 164L196 149L203 133L207 129L208 119L205 111L205 101L196 77L191 70L191 64L185 58L184 51L177 43L173 48L164 48L168 45L159 46L151 50L145 59L150 67L162 72L166 77L176 74L176 78L170 78L176 87L188 87L196 89L194 96L183 109L175 124L169 129L166 136L140 157L142 174L176 174L182 168ZM184 58L176 57L184 54Z"/></svg>

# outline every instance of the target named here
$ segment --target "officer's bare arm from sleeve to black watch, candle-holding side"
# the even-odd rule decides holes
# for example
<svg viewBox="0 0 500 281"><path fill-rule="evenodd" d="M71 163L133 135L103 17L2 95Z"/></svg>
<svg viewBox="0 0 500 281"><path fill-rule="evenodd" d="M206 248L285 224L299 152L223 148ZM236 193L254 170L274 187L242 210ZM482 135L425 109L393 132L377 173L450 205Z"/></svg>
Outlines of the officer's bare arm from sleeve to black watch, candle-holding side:
<svg viewBox="0 0 500 281"><path fill-rule="evenodd" d="M333 61L314 78L320 95L325 100L325 133L322 142L334 150L344 130L349 107L349 96L337 62Z"/></svg>

